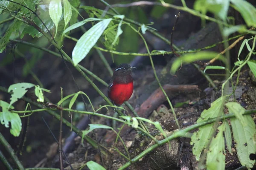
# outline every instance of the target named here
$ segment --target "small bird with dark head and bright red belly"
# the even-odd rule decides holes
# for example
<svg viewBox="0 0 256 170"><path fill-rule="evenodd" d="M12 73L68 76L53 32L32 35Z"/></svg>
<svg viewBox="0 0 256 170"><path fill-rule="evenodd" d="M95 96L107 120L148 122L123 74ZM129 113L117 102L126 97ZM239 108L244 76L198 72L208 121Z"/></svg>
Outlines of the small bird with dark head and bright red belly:
<svg viewBox="0 0 256 170"><path fill-rule="evenodd" d="M115 69L108 85L108 97L115 105L122 105L130 99L133 92L131 70L135 68L123 63Z"/></svg>

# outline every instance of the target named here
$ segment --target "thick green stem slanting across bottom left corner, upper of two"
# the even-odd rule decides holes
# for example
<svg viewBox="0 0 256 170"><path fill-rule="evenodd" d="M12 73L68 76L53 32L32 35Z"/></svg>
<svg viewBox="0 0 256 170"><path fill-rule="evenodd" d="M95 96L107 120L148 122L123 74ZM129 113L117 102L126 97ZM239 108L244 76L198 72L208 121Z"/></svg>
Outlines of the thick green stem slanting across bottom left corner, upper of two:
<svg viewBox="0 0 256 170"><path fill-rule="evenodd" d="M16 164L18 170L25 170L23 165L21 164L20 160L16 156L14 150L12 149L11 145L6 141L6 139L3 137L2 133L0 133L0 143L5 147L6 151L10 154L12 160Z"/></svg>

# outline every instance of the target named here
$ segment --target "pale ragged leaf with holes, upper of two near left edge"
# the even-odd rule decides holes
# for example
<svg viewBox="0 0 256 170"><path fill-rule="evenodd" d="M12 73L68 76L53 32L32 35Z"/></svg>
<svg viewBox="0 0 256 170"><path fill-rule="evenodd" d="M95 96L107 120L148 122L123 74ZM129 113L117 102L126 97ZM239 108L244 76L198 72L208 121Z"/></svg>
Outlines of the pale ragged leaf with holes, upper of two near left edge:
<svg viewBox="0 0 256 170"><path fill-rule="evenodd" d="M31 84L31 83L27 83L27 82L21 82L21 83L16 83L13 85L10 85L10 87L8 88L8 92L12 91L11 94L11 102L9 107L15 103L18 99L20 99L21 97L24 96L24 94L26 94L26 92L28 91L27 88L32 88L35 85Z"/></svg>

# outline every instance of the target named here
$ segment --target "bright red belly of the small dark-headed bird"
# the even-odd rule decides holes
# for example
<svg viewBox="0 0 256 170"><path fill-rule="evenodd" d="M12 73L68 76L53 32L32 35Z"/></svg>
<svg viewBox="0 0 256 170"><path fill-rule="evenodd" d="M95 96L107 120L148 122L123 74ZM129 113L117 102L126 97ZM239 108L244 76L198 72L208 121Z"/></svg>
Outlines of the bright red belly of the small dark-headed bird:
<svg viewBox="0 0 256 170"><path fill-rule="evenodd" d="M113 83L110 90L108 91L108 96L115 105L122 105L123 102L130 99L132 92L133 82L128 84Z"/></svg>

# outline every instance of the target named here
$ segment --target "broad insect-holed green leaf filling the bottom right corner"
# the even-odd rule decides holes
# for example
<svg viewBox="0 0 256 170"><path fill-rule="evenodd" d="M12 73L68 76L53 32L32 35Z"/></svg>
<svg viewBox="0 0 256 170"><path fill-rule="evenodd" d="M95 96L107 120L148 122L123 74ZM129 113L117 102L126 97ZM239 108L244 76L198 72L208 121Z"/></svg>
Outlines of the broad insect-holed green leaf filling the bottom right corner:
<svg viewBox="0 0 256 170"><path fill-rule="evenodd" d="M250 115L244 115L246 126L243 126L239 119L231 119L233 138L237 155L242 166L252 168L255 160L250 160L249 155L256 152L256 128Z"/></svg>

